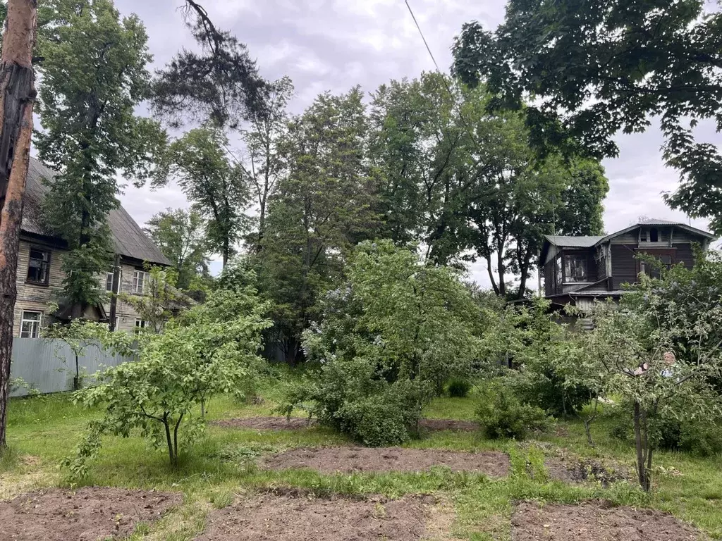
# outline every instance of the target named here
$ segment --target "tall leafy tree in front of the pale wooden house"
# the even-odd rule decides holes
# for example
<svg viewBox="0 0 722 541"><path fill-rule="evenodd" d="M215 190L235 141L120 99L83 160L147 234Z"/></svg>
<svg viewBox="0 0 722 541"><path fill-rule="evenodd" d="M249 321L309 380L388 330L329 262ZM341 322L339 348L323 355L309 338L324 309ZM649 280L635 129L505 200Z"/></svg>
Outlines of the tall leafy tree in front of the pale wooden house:
<svg viewBox="0 0 722 541"><path fill-rule="evenodd" d="M135 115L149 97L147 34L110 0L53 0L38 10L40 159L58 174L46 179L44 218L71 248L64 258L66 302L102 302L97 276L110 266L106 226L118 206L118 170L142 182L165 144L153 120Z"/></svg>

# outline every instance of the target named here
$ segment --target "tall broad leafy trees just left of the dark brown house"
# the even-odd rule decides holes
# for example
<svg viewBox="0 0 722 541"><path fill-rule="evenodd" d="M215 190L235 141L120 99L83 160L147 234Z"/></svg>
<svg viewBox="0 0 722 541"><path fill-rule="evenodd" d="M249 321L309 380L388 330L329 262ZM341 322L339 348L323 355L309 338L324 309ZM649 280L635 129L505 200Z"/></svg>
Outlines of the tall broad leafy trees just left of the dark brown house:
<svg viewBox="0 0 722 541"><path fill-rule="evenodd" d="M597 162L537 159L523 118L488 113L489 100L484 88L441 74L381 85L370 110L376 205L384 236L421 241L443 265L463 264L470 248L497 269L497 294L521 298L552 224L560 234L601 232L609 186ZM513 273L521 275L514 292Z"/></svg>

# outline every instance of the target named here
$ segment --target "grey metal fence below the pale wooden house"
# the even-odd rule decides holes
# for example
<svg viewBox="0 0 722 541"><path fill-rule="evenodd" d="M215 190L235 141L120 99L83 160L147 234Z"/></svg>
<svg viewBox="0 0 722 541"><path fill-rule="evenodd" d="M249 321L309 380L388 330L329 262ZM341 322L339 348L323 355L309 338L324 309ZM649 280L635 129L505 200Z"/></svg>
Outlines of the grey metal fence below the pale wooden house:
<svg viewBox="0 0 722 541"><path fill-rule="evenodd" d="M116 366L133 361L132 357L113 356L92 345L78 356L84 384L101 366ZM63 340L45 338L13 338L10 365L10 396L25 396L33 392L48 393L73 390L75 355ZM22 379L22 384L18 384Z"/></svg>

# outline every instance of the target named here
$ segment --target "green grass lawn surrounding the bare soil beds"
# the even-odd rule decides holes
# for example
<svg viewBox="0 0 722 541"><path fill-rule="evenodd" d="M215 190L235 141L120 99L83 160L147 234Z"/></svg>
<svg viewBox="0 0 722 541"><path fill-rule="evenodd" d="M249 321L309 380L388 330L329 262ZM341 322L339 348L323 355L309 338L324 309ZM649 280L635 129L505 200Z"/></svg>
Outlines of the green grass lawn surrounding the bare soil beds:
<svg viewBox="0 0 722 541"><path fill-rule="evenodd" d="M261 395L265 400L253 405L230 396L217 397L208 404L207 418L214 421L269 415L277 397L277 382L269 382ZM97 411L73 405L69 395L12 400L8 427L11 451L0 461L0 499L36 488L79 488L69 484L58 462L73 452L84 424L97 415ZM474 399L439 398L427 408L425 416L473 420ZM201 441L186 448L178 470L170 470L162 449L151 449L139 437L108 437L100 459L83 484L183 494L180 506L160 521L136 529L131 536L134 540L191 540L203 531L210 511L251 498L258 491L287 488L308 489L321 496L432 495L435 509L443 510L438 516L448 518L437 525L439 539L509 540L516 501L578 503L593 498L667 511L710 537L722 539L720 457L659 452L651 495L624 481L603 488L601 483L565 483L529 473L526 463L538 466L540 460L543 462L539 458L542 455L547 459L580 457L632 468L632 448L608 436L610 422L602 418L593 426L596 449L588 447L583 426L575 420L560 421L554 433L536 436L534 441L491 441L478 431L432 431L423 432L406 446L508 453L510 475L503 478L453 472L445 467L425 472L346 474L259 467L259 459L290 449L352 445L344 436L318 426L271 431L211 425Z"/></svg>

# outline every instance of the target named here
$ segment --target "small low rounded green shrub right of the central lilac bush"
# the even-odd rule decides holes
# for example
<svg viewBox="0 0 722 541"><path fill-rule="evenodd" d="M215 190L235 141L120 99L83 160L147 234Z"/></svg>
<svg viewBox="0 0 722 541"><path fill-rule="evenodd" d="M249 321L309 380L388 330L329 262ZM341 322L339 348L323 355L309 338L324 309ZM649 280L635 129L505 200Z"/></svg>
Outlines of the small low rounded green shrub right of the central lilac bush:
<svg viewBox="0 0 722 541"><path fill-rule="evenodd" d="M510 390L491 385L481 394L477 419L492 439L524 439L532 430L547 430L552 419L536 406L523 404Z"/></svg>

